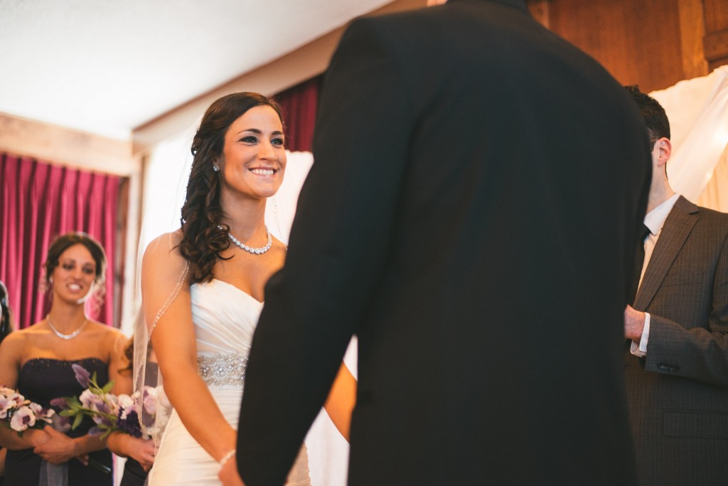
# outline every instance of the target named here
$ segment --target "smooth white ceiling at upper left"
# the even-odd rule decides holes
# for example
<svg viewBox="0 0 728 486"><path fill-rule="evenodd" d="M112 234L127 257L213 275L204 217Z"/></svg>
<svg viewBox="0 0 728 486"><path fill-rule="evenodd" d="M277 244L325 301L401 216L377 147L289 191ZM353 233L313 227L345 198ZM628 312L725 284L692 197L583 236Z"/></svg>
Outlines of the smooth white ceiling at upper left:
<svg viewBox="0 0 728 486"><path fill-rule="evenodd" d="M391 0L0 0L0 112L131 130Z"/></svg>

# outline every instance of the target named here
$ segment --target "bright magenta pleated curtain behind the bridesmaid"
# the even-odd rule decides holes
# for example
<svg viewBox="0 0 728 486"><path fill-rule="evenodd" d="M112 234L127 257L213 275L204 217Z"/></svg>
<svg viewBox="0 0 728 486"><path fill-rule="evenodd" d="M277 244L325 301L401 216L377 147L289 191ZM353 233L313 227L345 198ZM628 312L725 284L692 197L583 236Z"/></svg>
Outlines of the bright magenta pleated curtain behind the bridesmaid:
<svg viewBox="0 0 728 486"><path fill-rule="evenodd" d="M50 309L39 285L43 263L53 238L68 231L87 232L106 251L103 303L89 302L87 313L119 325L112 300L122 183L119 176L0 154L0 280L7 286L18 328L41 320Z"/></svg>

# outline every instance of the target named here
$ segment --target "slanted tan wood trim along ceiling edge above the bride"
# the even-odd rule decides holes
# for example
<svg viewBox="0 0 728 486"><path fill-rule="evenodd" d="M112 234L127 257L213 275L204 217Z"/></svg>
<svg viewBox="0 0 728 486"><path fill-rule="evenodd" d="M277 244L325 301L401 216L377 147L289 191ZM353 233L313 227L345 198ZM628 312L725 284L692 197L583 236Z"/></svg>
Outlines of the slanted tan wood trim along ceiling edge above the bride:
<svg viewBox="0 0 728 486"><path fill-rule="evenodd" d="M400 12L426 6L427 0L395 0L368 15ZM140 125L132 132L133 153L135 156L146 154L154 144L187 130L197 122L210 103L223 95L236 91L256 91L271 95L323 73L328 67L331 55L339 44L345 27L337 28L298 50L243 74Z"/></svg>

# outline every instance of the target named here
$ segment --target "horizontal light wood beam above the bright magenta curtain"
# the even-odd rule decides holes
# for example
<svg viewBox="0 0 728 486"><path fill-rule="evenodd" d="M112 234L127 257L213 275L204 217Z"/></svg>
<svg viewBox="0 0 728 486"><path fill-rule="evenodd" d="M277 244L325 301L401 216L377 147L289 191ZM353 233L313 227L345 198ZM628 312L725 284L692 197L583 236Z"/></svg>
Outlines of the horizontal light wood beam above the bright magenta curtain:
<svg viewBox="0 0 728 486"><path fill-rule="evenodd" d="M69 167L129 176L140 163L130 141L0 113L0 150Z"/></svg>

